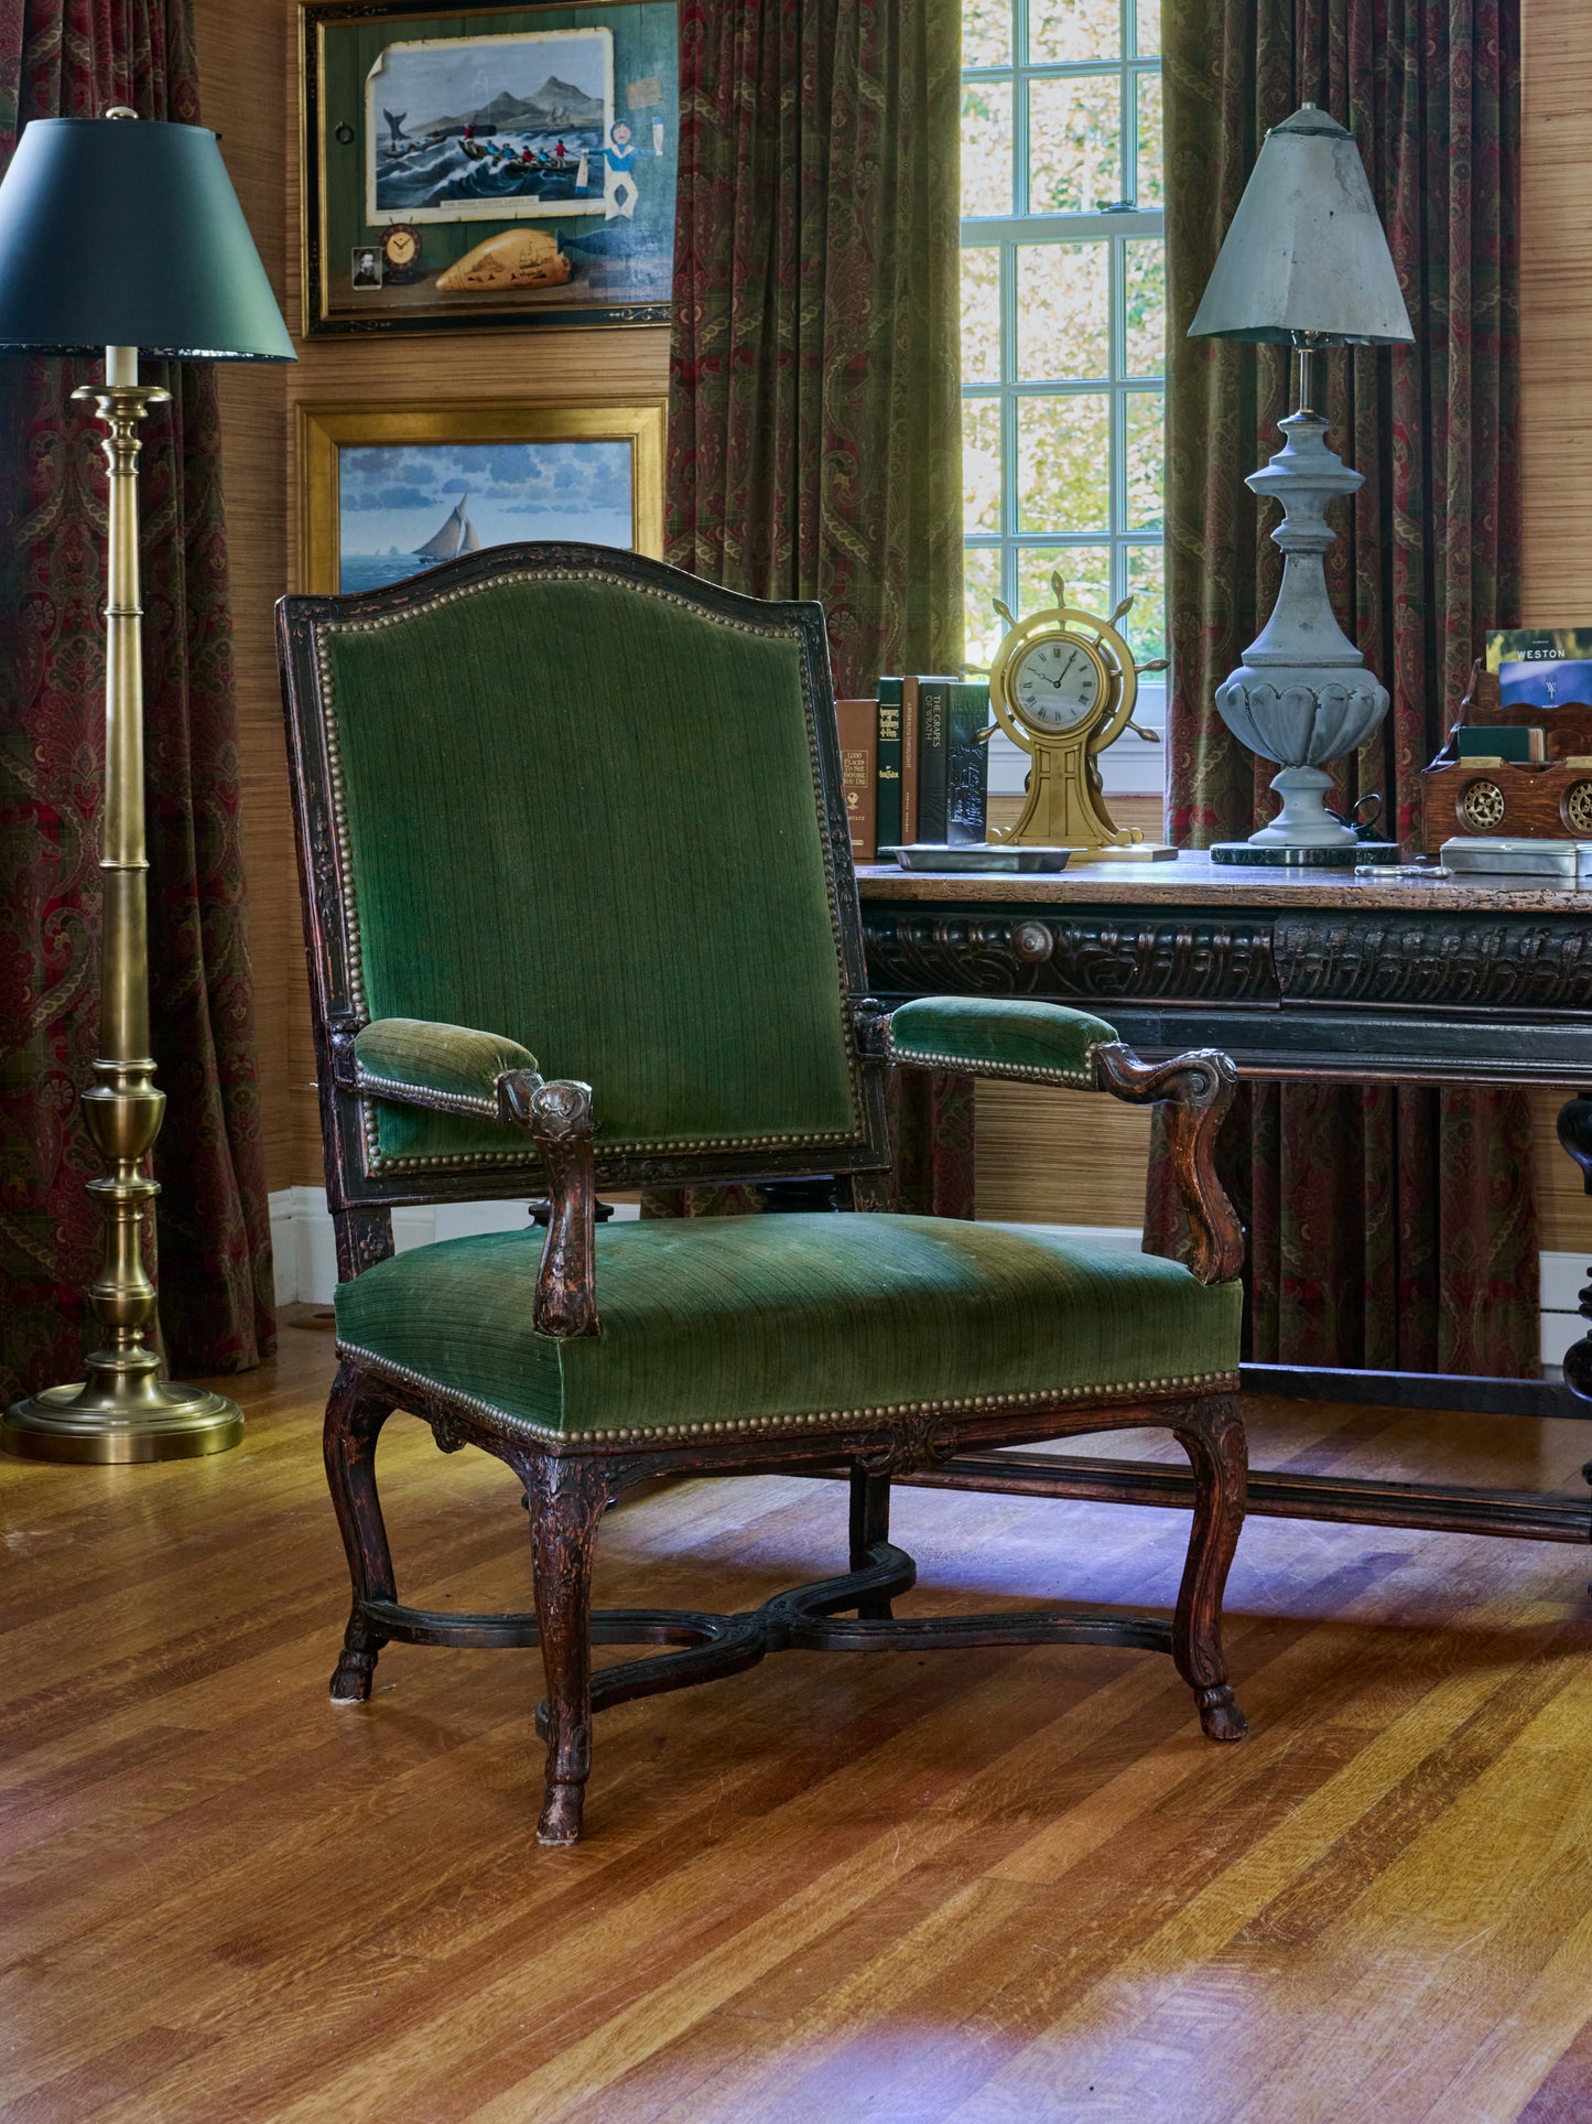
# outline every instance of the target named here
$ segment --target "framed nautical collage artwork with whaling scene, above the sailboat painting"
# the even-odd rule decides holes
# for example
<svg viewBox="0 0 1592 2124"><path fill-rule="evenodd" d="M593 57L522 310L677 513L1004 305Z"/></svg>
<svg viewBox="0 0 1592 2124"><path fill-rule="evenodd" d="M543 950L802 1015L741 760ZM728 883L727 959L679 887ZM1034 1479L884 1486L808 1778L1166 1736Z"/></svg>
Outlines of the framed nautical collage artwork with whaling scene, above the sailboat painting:
<svg viewBox="0 0 1592 2124"><path fill-rule="evenodd" d="M299 21L308 333L669 321L673 0Z"/></svg>

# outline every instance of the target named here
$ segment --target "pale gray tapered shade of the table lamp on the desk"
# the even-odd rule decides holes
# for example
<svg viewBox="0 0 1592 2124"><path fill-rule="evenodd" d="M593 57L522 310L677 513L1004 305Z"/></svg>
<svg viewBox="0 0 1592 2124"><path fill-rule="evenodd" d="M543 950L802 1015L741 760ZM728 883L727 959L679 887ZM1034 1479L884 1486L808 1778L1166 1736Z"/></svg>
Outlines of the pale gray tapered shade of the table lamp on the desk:
<svg viewBox="0 0 1592 2124"><path fill-rule="evenodd" d="M1354 136L1305 104L1265 136L1189 338L1414 340Z"/></svg>

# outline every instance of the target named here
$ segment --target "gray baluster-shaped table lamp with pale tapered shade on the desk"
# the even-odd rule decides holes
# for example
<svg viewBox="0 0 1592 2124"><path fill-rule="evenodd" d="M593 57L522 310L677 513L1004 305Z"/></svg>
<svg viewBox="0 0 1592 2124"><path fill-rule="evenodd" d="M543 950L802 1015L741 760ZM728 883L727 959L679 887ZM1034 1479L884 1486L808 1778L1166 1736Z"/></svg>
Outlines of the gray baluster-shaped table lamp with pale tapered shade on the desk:
<svg viewBox="0 0 1592 2124"><path fill-rule="evenodd" d="M1363 476L1327 444L1314 410L1316 355L1327 346L1414 342L1388 240L1354 136L1314 104L1274 125L1238 202L1189 338L1271 340L1299 350L1299 406L1280 423L1284 448L1248 489L1276 495L1282 588L1244 663L1216 688L1227 729L1282 769L1282 811L1248 841L1221 841L1214 862L1392 862L1392 841L1367 843L1327 811L1327 760L1354 752L1388 712L1386 686L1337 624L1322 554L1335 533L1327 503Z"/></svg>

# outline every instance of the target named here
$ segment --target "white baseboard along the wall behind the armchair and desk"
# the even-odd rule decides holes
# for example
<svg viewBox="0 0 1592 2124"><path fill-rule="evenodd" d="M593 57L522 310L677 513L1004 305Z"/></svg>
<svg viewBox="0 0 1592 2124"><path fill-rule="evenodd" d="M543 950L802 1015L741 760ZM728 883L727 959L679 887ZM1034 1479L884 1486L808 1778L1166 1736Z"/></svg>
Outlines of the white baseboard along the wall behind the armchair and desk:
<svg viewBox="0 0 1592 2124"><path fill-rule="evenodd" d="M325 1187L282 1187L272 1198L272 1253L276 1257L276 1304L329 1306L338 1289L338 1249ZM444 1202L437 1209L395 1209L393 1245L399 1253L433 1238L471 1238L478 1232L522 1232L524 1202ZM616 1202L616 1217L637 1217L635 1202ZM1144 1234L1131 1226L1046 1223L1061 1238L1089 1238L1100 1247L1138 1253ZM1579 1253L1543 1253L1541 1266L1541 1359L1550 1378L1560 1376L1564 1351L1586 1332L1579 1294L1588 1281Z"/></svg>

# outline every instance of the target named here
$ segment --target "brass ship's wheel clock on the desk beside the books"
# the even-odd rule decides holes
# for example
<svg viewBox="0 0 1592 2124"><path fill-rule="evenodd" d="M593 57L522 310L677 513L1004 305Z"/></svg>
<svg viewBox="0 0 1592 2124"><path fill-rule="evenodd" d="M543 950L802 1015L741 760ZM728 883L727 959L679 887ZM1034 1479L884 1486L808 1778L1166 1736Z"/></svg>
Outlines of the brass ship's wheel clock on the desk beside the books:
<svg viewBox="0 0 1592 2124"><path fill-rule="evenodd" d="M1051 576L1055 605L1025 620L996 599L1010 633L989 667L989 705L996 726L1029 754L1027 803L1015 826L991 841L1019 847L1070 847L1091 862L1153 862L1176 847L1146 841L1138 826L1117 826L1102 792L1097 754L1123 731L1150 743L1155 731L1134 722L1138 671L1134 652L1117 633L1134 599L1108 620L1068 605L1061 576ZM1165 671L1161 663L1146 671Z"/></svg>

